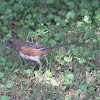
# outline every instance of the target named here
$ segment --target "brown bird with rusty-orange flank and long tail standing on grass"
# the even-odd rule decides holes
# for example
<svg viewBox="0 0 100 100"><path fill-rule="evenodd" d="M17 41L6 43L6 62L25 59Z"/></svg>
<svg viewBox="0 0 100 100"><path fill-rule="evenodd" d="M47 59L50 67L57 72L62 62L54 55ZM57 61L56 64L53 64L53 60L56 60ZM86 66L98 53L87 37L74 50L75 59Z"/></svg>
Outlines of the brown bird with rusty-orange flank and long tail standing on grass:
<svg viewBox="0 0 100 100"><path fill-rule="evenodd" d="M36 65L34 68L39 64L39 68L41 68L42 63L40 59L44 57L47 53L51 52L52 50L60 47L64 47L67 45L76 44L76 42L72 43L65 43L61 45L55 45L52 47L45 46L43 44L37 44L32 42L24 42L19 38L10 38L8 39L4 45L13 48L22 58L30 59L36 61Z"/></svg>

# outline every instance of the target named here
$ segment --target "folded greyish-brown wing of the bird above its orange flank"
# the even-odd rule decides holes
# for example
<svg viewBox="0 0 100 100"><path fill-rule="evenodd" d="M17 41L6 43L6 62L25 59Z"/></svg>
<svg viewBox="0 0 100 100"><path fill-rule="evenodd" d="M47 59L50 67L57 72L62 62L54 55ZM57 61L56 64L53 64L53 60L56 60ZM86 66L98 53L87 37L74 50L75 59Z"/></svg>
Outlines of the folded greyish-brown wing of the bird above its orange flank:
<svg viewBox="0 0 100 100"><path fill-rule="evenodd" d="M40 49L40 50L43 48L47 48L43 44L30 43L30 42L24 42L22 46L25 46L25 47L30 48L30 49Z"/></svg>

